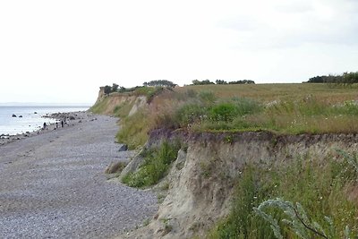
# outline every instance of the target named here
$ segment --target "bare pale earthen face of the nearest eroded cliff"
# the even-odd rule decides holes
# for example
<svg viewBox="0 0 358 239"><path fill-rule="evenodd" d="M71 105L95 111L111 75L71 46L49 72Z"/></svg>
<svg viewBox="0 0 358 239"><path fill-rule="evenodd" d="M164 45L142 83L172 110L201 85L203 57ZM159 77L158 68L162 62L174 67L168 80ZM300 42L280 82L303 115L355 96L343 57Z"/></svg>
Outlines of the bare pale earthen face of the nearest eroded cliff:
<svg viewBox="0 0 358 239"><path fill-rule="evenodd" d="M159 135L153 135L158 141ZM169 140L178 135L171 136ZM324 163L325 158L337 156L337 149L349 152L358 147L357 135L344 134L197 133L182 139L188 148L179 151L164 180L169 190L158 214L149 226L140 228L130 238L204 236L219 218L228 214L233 185L243 166L253 163L285 167L308 155ZM165 221L171 226L170 232Z"/></svg>

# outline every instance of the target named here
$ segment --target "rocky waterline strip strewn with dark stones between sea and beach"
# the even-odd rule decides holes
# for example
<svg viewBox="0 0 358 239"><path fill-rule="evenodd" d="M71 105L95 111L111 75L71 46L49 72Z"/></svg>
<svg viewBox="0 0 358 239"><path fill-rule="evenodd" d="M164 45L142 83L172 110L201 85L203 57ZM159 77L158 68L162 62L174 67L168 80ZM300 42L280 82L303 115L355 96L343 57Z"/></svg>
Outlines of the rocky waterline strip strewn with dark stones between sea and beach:
<svg viewBox="0 0 358 239"><path fill-rule="evenodd" d="M15 135L2 135L0 137L0 146L6 145L8 143L11 143L13 141L20 141L21 139L33 137L39 134L47 133L47 132L53 132L53 131L60 131L63 129L61 127L61 120L64 120L64 128L74 126L76 124L81 124L83 122L89 122L97 120L96 115L88 112L88 111L73 111L73 112L66 112L66 113L54 113L54 114L48 114L44 115L44 118L52 118L55 119L58 124L56 127L56 124L47 124L46 129L39 128L36 131L33 132L23 132Z"/></svg>

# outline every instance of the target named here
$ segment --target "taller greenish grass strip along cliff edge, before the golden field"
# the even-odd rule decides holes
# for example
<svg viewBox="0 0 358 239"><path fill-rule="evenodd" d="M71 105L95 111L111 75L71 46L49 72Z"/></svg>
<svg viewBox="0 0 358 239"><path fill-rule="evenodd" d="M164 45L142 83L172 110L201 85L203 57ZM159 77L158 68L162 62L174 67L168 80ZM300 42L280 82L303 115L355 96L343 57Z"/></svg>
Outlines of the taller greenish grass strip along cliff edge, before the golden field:
<svg viewBox="0 0 358 239"><path fill-rule="evenodd" d="M213 98L208 92L175 105L156 127L171 125L194 131L259 131L284 133L358 132L358 104L332 105L316 97L263 104L251 98Z"/></svg>

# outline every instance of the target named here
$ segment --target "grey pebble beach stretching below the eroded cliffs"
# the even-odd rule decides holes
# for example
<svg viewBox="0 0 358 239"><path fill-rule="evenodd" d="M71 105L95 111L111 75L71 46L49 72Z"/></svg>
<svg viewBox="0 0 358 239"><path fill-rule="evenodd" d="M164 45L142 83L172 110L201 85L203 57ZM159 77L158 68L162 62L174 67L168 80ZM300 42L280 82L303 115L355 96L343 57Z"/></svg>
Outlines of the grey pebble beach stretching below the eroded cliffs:
<svg viewBox="0 0 358 239"><path fill-rule="evenodd" d="M104 174L134 154L118 151L117 119L78 114L64 128L2 141L0 238L112 238L153 217L152 192Z"/></svg>

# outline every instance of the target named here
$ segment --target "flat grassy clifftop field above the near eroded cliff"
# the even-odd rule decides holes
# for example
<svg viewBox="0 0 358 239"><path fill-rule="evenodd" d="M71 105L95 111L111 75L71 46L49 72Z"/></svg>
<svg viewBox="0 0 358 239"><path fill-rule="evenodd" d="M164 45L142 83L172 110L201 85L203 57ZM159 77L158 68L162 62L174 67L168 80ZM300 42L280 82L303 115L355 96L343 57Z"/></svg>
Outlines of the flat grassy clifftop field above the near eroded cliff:
<svg viewBox="0 0 358 239"><path fill-rule="evenodd" d="M176 94L185 95L195 89L203 91L186 100L172 99L175 110L165 116L162 113L155 127L169 125L198 132L358 132L354 124L358 116L355 86L332 89L324 84L209 85L186 87Z"/></svg>

